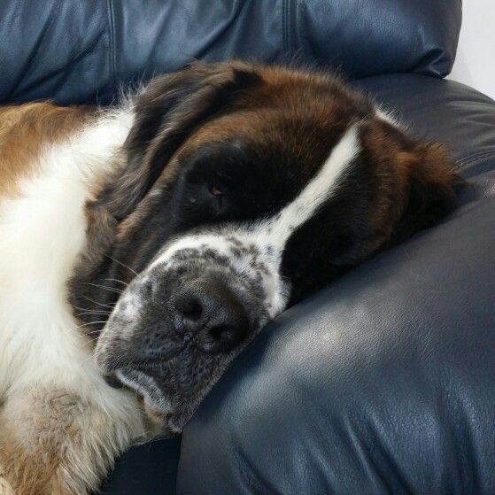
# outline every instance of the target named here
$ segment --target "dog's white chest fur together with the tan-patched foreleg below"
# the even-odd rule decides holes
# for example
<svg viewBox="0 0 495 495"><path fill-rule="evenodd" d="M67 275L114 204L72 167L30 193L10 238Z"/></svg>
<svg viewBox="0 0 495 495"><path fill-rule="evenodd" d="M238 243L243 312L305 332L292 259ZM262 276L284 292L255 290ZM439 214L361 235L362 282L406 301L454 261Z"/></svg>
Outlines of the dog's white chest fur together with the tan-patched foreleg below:
<svg viewBox="0 0 495 495"><path fill-rule="evenodd" d="M145 435L134 395L97 371L66 287L86 244L84 205L119 166L131 121L128 109L96 114L40 143L29 174L0 196L0 487L19 495L95 488Z"/></svg>

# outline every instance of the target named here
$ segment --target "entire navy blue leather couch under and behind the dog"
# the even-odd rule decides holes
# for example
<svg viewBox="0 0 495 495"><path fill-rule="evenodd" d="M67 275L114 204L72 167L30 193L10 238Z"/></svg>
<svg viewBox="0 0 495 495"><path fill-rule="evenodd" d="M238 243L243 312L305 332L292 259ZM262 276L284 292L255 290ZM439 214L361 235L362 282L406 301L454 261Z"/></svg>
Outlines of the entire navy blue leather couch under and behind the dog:
<svg viewBox="0 0 495 495"><path fill-rule="evenodd" d="M495 102L443 79L460 17L460 0L0 2L2 102L107 104L190 58L336 67L468 179L441 225L269 325L182 441L132 449L105 493L495 493Z"/></svg>

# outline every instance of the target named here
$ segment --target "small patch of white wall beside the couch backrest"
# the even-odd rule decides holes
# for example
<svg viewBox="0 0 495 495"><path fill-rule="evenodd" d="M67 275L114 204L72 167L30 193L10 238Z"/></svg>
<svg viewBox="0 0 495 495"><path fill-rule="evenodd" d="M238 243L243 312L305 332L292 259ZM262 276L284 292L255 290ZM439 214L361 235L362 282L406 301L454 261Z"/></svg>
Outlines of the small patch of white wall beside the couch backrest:
<svg viewBox="0 0 495 495"><path fill-rule="evenodd" d="M495 99L495 0L463 0L459 48L449 79Z"/></svg>

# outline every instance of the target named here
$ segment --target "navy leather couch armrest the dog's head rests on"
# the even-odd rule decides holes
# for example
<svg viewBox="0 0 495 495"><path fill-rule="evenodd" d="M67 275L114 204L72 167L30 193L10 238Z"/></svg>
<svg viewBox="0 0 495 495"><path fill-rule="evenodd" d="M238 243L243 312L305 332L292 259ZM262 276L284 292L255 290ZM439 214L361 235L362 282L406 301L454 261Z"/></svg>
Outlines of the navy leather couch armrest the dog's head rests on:
<svg viewBox="0 0 495 495"><path fill-rule="evenodd" d="M360 86L450 143L460 207L267 327L184 430L179 494L495 492L495 103Z"/></svg>

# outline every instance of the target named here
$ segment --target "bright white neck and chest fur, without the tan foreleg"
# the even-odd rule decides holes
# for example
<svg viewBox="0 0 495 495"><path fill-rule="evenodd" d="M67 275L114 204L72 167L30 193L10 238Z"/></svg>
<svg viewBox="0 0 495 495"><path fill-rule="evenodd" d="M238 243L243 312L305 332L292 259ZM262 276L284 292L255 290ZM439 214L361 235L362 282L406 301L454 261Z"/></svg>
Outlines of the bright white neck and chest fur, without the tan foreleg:
<svg viewBox="0 0 495 495"><path fill-rule="evenodd" d="M47 146L35 178L20 183L18 197L0 199L1 400L41 385L74 391L112 414L135 414L102 380L66 302L85 244L91 182L115 166L131 122L130 110L105 113Z"/></svg>

